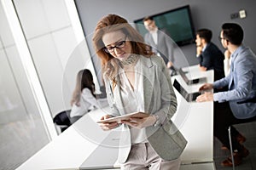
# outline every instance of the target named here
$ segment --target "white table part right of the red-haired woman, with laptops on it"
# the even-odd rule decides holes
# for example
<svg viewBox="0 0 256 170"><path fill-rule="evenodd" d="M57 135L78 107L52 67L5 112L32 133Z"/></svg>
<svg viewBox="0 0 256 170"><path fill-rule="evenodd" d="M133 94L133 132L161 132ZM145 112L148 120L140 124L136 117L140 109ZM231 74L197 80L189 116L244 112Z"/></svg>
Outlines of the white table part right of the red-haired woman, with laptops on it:
<svg viewBox="0 0 256 170"><path fill-rule="evenodd" d="M183 71L189 71L187 73L189 79L207 77L207 82L213 82L213 71L200 71L198 65L184 68ZM172 77L172 80L174 78L189 93L197 92L201 87L201 84L188 86L180 76ZM195 165L196 163L206 162L209 164L213 162L213 103L188 103L177 93L176 89L175 93L178 106L177 114L172 117L172 121L189 141L181 156L182 163Z"/></svg>

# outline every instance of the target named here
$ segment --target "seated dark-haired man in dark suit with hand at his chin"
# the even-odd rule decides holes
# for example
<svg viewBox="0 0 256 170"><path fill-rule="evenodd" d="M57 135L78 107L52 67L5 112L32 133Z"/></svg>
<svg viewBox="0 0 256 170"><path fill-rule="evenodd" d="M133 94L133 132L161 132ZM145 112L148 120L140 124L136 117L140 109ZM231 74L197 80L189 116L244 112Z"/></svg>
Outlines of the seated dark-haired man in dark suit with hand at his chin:
<svg viewBox="0 0 256 170"><path fill-rule="evenodd" d="M200 70L214 70L214 81L224 77L224 54L211 42L212 31L201 29L196 31L196 57Z"/></svg>

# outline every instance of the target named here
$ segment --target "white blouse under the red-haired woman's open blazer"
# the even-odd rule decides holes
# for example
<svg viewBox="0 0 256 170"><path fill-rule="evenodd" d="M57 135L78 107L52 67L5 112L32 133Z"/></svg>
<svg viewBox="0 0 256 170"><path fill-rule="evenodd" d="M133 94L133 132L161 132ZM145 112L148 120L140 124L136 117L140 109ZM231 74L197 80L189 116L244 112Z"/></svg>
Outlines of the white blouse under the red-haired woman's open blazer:
<svg viewBox="0 0 256 170"><path fill-rule="evenodd" d="M125 104L125 112L127 114L139 111L144 112L143 74L140 59L138 59L137 65L135 65L135 82L133 89L131 88L131 84L125 75L125 71L123 69L120 69L119 71L119 78L121 82L121 99ZM148 141L146 138L145 128L137 129L131 127L130 130L132 144L146 143Z"/></svg>

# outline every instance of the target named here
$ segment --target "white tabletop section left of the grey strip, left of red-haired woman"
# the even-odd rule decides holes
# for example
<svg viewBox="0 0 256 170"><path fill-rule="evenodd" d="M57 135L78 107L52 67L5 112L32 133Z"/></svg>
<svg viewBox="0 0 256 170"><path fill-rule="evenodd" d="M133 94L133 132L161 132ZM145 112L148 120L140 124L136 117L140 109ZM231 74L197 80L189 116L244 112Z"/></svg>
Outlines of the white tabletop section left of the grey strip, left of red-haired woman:
<svg viewBox="0 0 256 170"><path fill-rule="evenodd" d="M108 113L108 111L105 112ZM79 169L98 145L112 133L102 131L96 124L96 120L99 120L102 114L104 111L96 110L83 116L17 170ZM96 157L96 162L99 161L101 158Z"/></svg>

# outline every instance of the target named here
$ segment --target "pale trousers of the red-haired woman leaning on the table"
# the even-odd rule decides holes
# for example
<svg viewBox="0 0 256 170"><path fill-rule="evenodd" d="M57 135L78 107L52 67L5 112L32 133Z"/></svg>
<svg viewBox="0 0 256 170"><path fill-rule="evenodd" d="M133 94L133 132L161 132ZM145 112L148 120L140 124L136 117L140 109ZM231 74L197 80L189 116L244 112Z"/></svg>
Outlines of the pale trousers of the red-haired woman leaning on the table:
<svg viewBox="0 0 256 170"><path fill-rule="evenodd" d="M165 161L157 155L150 144L133 144L127 161L121 165L122 170L178 170L180 158Z"/></svg>

